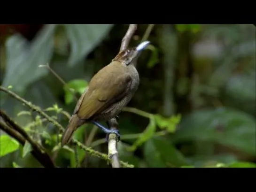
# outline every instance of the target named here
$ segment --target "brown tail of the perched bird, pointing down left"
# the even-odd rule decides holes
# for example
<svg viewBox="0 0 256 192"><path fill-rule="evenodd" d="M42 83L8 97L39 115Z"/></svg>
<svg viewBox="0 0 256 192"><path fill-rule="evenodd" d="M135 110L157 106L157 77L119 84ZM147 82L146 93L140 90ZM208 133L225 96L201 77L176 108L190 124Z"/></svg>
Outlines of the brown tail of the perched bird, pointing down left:
<svg viewBox="0 0 256 192"><path fill-rule="evenodd" d="M62 134L61 146L64 146L65 144L68 144L70 142L70 139L71 139L74 131L76 131L76 129L78 127L79 120L80 119L77 114L71 116L70 122Z"/></svg>

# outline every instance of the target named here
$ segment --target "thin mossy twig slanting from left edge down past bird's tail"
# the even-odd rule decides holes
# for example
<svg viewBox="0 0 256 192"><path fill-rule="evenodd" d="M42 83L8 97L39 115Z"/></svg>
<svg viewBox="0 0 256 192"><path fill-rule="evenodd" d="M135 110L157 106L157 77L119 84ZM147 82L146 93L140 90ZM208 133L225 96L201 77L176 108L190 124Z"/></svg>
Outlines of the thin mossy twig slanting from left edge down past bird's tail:
<svg viewBox="0 0 256 192"><path fill-rule="evenodd" d="M10 96L12 96L16 100L22 102L24 105L31 108L33 111L36 111L39 115L42 115L43 117L45 117L48 122L53 123L54 126L57 127L61 132L64 131L64 128L62 127L62 125L60 123L58 123L52 117L50 117L45 112L43 112L43 110L41 108L39 108L38 106L31 104L31 102L28 102L27 100L24 100L23 98L18 96L16 93L9 91L8 89L6 89L2 86L0 86L0 91L8 93ZM105 161L110 161L107 154L102 154L98 151L95 151L95 150L91 149L90 147L87 147L87 146L83 145L82 143L80 143L76 139L71 139L71 143L75 144L76 146L80 147L81 149L83 149L84 151L88 152L89 154L91 154L93 156L99 157L99 158L101 158ZM134 167L133 165L125 163L124 161L120 161L120 164L125 168L133 168Z"/></svg>

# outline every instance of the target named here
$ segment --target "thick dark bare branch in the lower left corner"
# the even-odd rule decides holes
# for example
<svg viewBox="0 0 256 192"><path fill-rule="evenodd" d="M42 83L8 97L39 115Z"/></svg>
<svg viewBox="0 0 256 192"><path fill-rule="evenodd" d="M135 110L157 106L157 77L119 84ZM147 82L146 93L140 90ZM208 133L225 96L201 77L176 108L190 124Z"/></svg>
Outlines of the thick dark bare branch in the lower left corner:
<svg viewBox="0 0 256 192"><path fill-rule="evenodd" d="M5 131L9 136L15 138L21 145L25 145L28 141L32 147L31 154L44 166L45 168L55 168L54 162L47 154L46 149L38 142L34 141L18 124L16 124L8 115L0 110L0 129Z"/></svg>

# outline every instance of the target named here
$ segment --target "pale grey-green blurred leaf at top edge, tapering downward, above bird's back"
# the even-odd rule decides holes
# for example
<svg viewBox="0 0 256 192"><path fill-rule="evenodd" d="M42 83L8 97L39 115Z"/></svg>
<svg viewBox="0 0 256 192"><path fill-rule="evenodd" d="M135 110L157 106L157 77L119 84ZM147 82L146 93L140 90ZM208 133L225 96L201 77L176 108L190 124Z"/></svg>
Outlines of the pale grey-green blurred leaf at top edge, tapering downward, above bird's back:
<svg viewBox="0 0 256 192"><path fill-rule="evenodd" d="M71 46L69 64L87 56L108 34L113 24L64 24Z"/></svg>

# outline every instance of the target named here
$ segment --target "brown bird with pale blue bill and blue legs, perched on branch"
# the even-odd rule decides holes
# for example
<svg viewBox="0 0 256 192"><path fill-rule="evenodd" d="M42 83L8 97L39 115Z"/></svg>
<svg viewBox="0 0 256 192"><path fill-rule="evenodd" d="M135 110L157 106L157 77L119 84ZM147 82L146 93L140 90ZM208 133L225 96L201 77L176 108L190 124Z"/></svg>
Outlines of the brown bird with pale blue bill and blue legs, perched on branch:
<svg viewBox="0 0 256 192"><path fill-rule="evenodd" d="M115 133L120 139L118 130L109 130L96 121L109 121L116 117L132 99L140 83L137 60L149 43L144 41L137 47L125 49L93 76L62 134L62 146L68 144L74 131L87 122L95 124L107 135Z"/></svg>

